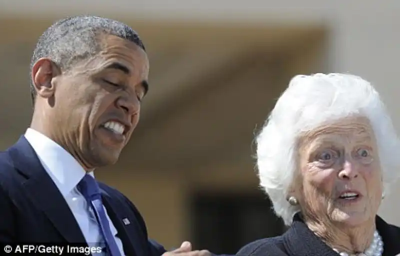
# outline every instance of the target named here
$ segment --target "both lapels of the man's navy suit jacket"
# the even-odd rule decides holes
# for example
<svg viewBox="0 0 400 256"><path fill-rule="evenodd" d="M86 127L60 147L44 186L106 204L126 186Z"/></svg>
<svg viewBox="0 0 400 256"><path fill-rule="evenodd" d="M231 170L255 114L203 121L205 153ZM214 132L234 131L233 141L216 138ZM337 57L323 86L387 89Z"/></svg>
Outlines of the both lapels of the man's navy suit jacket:
<svg viewBox="0 0 400 256"><path fill-rule="evenodd" d="M24 177L21 183L26 195L33 204L43 211L66 241L85 242L83 233L68 204L65 202L56 184L43 168L26 138L21 136L7 151L15 169ZM144 238L138 237L140 227L135 219L130 219L132 223L128 225L124 224L122 219L126 216L115 210L121 208L119 201L115 201L115 198L111 197L104 189L101 189L101 195L107 213L117 229L117 235L122 240L126 255L146 255L142 245L139 244L139 241L144 240Z"/></svg>

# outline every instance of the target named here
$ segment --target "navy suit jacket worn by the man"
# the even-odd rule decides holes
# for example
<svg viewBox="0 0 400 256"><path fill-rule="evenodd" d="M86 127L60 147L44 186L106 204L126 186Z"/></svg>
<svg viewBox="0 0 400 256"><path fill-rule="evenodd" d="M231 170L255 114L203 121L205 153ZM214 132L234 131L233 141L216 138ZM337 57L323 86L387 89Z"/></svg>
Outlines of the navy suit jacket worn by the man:
<svg viewBox="0 0 400 256"><path fill-rule="evenodd" d="M102 183L100 189L126 255L165 252L147 238L139 211L123 194ZM124 224L124 218L130 223ZM85 242L71 210L24 136L0 152L0 242Z"/></svg>

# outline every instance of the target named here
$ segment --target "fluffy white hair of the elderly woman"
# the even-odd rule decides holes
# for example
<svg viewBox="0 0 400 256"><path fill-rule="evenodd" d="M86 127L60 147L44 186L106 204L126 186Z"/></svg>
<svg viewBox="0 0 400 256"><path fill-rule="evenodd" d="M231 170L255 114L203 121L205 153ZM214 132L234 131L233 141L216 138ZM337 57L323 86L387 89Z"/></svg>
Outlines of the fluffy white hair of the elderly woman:
<svg viewBox="0 0 400 256"><path fill-rule="evenodd" d="M276 102L256 137L260 186L268 194L276 215L289 225L298 206L287 202L287 192L298 170L296 145L300 134L339 118L368 118L377 140L383 189L396 180L400 141L378 92L351 74L296 75Z"/></svg>

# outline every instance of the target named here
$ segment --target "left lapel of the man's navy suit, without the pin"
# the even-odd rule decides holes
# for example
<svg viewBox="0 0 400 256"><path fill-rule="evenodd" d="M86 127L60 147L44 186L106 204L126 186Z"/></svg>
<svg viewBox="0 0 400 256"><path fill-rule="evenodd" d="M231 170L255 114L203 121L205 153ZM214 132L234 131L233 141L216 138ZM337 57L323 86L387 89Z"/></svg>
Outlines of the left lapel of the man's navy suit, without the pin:
<svg viewBox="0 0 400 256"><path fill-rule="evenodd" d="M26 177L22 186L33 204L44 212L68 242L85 242L68 204L25 137L21 136L8 150L15 168Z"/></svg>

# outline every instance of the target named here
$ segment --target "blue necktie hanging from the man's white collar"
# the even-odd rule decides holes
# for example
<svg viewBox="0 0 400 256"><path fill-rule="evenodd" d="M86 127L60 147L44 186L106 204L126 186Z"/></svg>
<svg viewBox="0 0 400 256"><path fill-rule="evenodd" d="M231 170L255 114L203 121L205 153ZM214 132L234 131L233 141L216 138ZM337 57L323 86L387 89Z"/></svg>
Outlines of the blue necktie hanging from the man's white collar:
<svg viewBox="0 0 400 256"><path fill-rule="evenodd" d="M77 188L86 198L87 203L96 215L97 222L100 225L101 234L106 243L108 255L121 256L115 238L111 233L107 216L105 215L103 203L101 201L100 188L98 187L97 181L90 174L85 174L82 180L79 181Z"/></svg>

